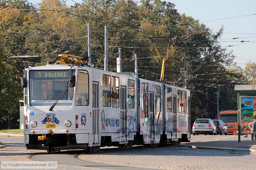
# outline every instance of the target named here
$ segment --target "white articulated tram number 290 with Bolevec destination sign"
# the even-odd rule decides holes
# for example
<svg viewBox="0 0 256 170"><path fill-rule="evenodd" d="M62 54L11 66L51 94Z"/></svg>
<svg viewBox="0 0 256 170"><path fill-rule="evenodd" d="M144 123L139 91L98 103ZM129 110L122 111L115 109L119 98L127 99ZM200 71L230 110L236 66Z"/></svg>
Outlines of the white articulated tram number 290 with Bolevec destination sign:
<svg viewBox="0 0 256 170"><path fill-rule="evenodd" d="M190 139L190 92L89 66L24 69L24 144L48 152Z"/></svg>

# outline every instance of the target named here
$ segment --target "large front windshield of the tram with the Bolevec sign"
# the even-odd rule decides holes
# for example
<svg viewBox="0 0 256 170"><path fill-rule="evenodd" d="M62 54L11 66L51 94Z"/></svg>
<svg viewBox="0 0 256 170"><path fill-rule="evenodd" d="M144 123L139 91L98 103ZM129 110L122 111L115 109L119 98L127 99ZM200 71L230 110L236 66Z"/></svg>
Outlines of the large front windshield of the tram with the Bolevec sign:
<svg viewBox="0 0 256 170"><path fill-rule="evenodd" d="M74 75L75 70L71 70ZM29 71L29 90L31 106L51 106L67 89L69 70L31 70ZM74 88L68 86L65 94L56 105L72 105Z"/></svg>

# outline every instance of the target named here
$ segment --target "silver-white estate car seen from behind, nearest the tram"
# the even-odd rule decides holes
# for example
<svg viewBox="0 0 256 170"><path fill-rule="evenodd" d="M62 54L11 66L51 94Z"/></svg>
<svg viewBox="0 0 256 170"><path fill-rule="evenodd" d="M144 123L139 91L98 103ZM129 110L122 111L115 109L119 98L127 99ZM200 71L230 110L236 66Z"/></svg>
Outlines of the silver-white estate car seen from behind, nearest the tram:
<svg viewBox="0 0 256 170"><path fill-rule="evenodd" d="M193 135L209 134L217 135L216 126L210 118L208 119L196 119L193 124Z"/></svg>

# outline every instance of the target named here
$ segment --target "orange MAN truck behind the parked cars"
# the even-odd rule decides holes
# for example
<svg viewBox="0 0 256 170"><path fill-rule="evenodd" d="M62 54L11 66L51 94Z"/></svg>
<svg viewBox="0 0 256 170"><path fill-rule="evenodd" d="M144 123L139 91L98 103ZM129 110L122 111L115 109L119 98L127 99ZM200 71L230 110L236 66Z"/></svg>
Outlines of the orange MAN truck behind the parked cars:
<svg viewBox="0 0 256 170"><path fill-rule="evenodd" d="M219 120L228 127L228 135L238 135L238 112L236 110L220 111Z"/></svg>

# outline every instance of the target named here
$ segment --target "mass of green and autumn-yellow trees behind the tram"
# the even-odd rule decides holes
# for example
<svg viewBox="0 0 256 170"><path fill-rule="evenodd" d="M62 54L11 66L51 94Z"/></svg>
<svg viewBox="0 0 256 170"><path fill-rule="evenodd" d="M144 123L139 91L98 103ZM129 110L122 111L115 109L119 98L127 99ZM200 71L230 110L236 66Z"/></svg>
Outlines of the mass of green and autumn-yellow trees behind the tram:
<svg viewBox="0 0 256 170"><path fill-rule="evenodd" d="M1 1L13 7L31 8L26 0ZM118 47L122 50L122 70L134 72L132 57L138 54L139 77L160 79L162 61L155 57L156 51L149 37L173 37L169 58L166 61L164 79L184 87L184 71L188 65L188 88L191 89L191 122L195 118L216 116L216 97L219 84L231 80L255 81L251 72L230 69L234 55L222 48L217 41L218 33L211 32L205 24L185 14L179 14L175 5L166 1L141 0L84 0L75 7L66 7L63 0L42 0L42 10L17 10L1 7L0 57L1 94L0 121L18 119L18 100L22 99L19 78L25 65L42 65L57 54L87 56L87 23L91 24L92 63L104 67L104 26L108 25L109 69L115 71ZM20 9L20 8L18 8ZM50 11L51 10L51 11ZM53 11L54 10L54 11ZM63 12L60 12L63 11ZM129 41L126 41L129 40ZM167 55L167 42L156 40L161 56ZM44 56L8 59L9 56ZM155 58L147 58L155 57ZM12 60L17 60L14 62ZM248 69L255 70L248 65ZM217 74L216 74L217 73ZM254 72L252 72L254 73ZM253 82L255 83L255 82ZM217 88L216 88L217 87ZM236 108L234 86L220 89L220 109ZM15 100L13 100L15 99ZM9 128L11 125L9 124Z"/></svg>

